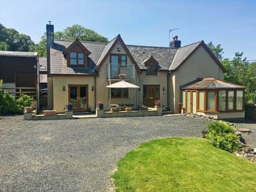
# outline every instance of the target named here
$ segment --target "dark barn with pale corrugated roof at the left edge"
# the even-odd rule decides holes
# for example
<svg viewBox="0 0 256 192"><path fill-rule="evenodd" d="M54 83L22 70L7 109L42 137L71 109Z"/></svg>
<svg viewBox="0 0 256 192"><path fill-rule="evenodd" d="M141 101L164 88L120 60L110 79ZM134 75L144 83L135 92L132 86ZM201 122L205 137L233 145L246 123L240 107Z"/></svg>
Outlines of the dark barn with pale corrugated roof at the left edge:
<svg viewBox="0 0 256 192"><path fill-rule="evenodd" d="M15 98L25 93L36 100L37 66L36 52L0 51L0 79L3 79L3 88Z"/></svg>

